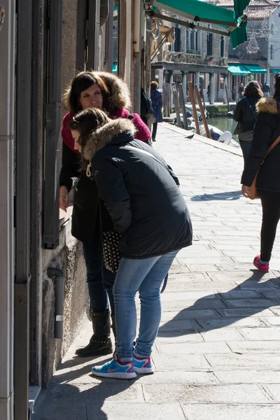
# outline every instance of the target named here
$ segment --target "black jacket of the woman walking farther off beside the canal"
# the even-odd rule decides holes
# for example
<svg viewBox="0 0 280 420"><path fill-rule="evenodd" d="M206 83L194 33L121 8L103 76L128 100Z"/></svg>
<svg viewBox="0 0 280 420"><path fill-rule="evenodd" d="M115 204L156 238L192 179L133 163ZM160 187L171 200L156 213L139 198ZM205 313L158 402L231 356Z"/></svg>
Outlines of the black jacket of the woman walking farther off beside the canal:
<svg viewBox="0 0 280 420"><path fill-rule="evenodd" d="M233 114L233 119L238 123L237 129L235 130L236 134L241 134L254 129L256 121L255 106L256 104L258 104L258 101L258 98L240 99L235 108L235 113ZM248 102L250 103L252 108L250 108Z"/></svg>

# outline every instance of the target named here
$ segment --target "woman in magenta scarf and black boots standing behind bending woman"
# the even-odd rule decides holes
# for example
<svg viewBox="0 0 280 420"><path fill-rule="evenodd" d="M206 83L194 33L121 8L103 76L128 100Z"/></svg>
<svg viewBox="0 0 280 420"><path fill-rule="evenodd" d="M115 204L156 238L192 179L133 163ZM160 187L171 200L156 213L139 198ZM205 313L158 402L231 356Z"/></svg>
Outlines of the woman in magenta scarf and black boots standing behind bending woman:
<svg viewBox="0 0 280 420"><path fill-rule="evenodd" d="M80 153L74 147L69 123L81 109L95 107L104 109L111 118L131 118L139 140L148 141L151 132L137 114L131 115L127 111L126 108L130 106L128 87L111 73L92 71L78 73L66 90L64 99L69 113L64 116L62 125L59 207L66 211L69 191L74 188L71 233L83 243L90 294L90 316L94 332L89 344L77 349L76 354L94 356L112 352L109 300L114 330L113 283L116 275L106 269L102 260L98 190L94 180L90 180L85 171L80 170Z"/></svg>

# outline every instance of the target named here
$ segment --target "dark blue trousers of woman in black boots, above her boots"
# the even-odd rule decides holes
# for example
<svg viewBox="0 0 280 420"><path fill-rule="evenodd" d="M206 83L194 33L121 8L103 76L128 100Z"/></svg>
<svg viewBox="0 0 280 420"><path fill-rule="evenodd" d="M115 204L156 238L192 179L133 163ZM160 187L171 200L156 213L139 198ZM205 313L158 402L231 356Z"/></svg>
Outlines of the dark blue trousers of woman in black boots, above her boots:
<svg viewBox="0 0 280 420"><path fill-rule="evenodd" d="M87 267L90 309L94 312L106 311L109 309L110 302L111 313L114 314L113 284L116 274L104 266L101 241L94 239L91 244L83 243L83 256Z"/></svg>

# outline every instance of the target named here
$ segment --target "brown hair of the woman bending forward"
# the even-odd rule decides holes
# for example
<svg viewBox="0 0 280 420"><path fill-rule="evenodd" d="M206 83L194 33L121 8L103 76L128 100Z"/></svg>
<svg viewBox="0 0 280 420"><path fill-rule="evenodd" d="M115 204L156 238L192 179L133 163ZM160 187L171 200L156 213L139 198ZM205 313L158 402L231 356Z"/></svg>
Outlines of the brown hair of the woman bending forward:
<svg viewBox="0 0 280 420"><path fill-rule="evenodd" d="M78 144L82 149L81 153L81 168L87 169L87 160L83 156L83 148L87 144L87 141L90 140L92 134L97 130L97 128L102 127L106 123L109 123L110 119L106 116L104 111L101 111L97 108L88 108L83 109L76 114L69 123L71 130L76 130L79 132L80 137L78 138Z"/></svg>

